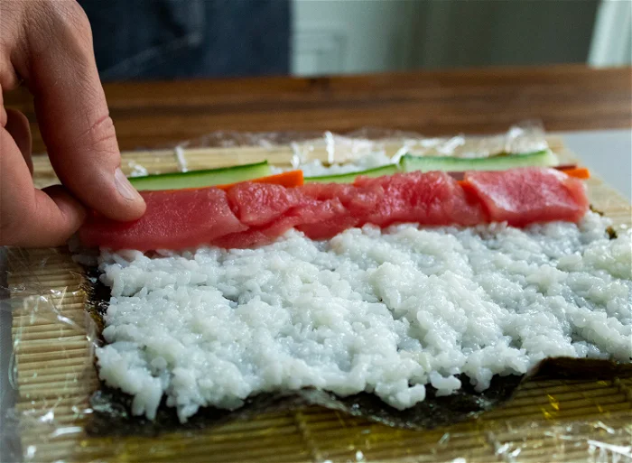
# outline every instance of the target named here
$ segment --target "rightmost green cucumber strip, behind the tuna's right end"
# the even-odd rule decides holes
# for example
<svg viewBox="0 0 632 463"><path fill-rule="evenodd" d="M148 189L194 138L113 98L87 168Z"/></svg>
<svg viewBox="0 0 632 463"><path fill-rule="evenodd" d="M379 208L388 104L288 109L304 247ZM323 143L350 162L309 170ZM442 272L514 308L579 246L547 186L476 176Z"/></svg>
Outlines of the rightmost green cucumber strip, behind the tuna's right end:
<svg viewBox="0 0 632 463"><path fill-rule="evenodd" d="M552 167L557 158L549 150L521 154L497 154L488 158L454 158L448 156L414 156L404 154L404 172L412 171L505 171L516 167Z"/></svg>

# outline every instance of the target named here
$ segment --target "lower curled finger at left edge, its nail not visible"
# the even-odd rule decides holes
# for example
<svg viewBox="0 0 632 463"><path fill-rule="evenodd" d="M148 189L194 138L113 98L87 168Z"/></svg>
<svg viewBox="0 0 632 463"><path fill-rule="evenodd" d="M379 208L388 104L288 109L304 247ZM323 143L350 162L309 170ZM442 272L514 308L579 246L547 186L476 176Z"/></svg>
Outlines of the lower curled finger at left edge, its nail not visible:
<svg viewBox="0 0 632 463"><path fill-rule="evenodd" d="M0 153L0 245L63 245L83 222L83 206L60 186L35 190L23 154L2 127Z"/></svg>

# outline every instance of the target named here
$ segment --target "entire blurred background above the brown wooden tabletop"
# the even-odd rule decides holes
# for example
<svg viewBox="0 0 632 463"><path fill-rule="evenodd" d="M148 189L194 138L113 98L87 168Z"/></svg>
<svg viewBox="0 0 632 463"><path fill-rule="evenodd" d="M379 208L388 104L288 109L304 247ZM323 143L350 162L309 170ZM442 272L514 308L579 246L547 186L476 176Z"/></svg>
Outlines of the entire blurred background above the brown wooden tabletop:
<svg viewBox="0 0 632 463"><path fill-rule="evenodd" d="M632 62L632 0L79 0L104 81Z"/></svg>

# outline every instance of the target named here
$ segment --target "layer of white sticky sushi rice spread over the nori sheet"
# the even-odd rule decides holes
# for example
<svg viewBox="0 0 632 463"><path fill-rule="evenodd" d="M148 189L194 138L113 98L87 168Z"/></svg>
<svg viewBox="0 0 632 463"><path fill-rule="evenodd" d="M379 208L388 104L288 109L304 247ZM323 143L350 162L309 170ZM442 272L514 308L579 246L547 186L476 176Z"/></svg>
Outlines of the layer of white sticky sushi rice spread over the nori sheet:
<svg viewBox="0 0 632 463"><path fill-rule="evenodd" d="M257 249L102 251L99 375L155 417L316 387L403 410L544 357L632 356L632 242L607 219L291 230ZM457 377L457 375L459 375Z"/></svg>

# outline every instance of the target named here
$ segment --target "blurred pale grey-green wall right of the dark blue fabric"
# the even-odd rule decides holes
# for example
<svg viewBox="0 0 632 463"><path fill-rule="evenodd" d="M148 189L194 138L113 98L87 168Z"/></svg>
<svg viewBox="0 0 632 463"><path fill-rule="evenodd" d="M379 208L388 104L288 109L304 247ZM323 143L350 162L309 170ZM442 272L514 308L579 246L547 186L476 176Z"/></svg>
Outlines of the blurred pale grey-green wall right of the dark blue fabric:
<svg viewBox="0 0 632 463"><path fill-rule="evenodd" d="M597 0L293 0L291 69L313 76L585 62L598 5Z"/></svg>

